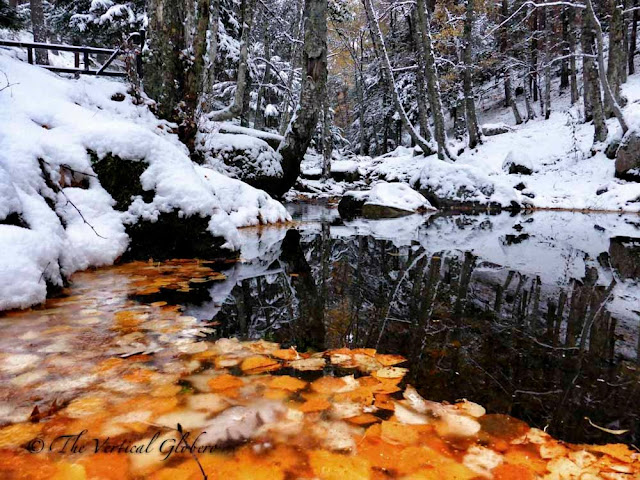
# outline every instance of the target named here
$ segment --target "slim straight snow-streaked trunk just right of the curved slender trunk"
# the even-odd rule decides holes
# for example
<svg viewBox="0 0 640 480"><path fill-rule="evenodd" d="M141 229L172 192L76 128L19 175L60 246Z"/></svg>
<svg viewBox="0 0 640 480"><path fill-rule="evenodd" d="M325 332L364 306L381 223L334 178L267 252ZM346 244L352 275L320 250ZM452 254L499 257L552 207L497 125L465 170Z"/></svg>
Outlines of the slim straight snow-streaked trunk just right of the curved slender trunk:
<svg viewBox="0 0 640 480"><path fill-rule="evenodd" d="M426 74L429 105L431 106L431 115L433 117L433 134L438 146L438 158L443 159L446 156L454 159L455 157L451 155L447 147L447 135L445 132L444 112L442 110L440 83L438 81L436 58L432 46L429 12L427 11L425 0L418 0L416 8L418 12L418 28L420 36L422 37L422 45L424 47L424 70Z"/></svg>

